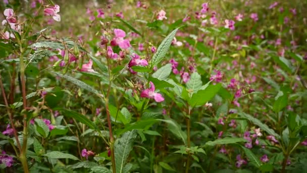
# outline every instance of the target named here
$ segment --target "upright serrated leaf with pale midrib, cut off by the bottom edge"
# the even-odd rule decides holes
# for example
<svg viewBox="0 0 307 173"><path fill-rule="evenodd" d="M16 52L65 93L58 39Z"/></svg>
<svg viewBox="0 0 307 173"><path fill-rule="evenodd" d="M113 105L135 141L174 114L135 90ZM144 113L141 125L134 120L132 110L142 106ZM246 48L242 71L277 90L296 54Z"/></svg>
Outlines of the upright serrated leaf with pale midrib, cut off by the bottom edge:
<svg viewBox="0 0 307 173"><path fill-rule="evenodd" d="M116 139L114 143L116 172L124 172L124 166L133 148L133 142L136 138L136 130L126 132L121 138Z"/></svg>

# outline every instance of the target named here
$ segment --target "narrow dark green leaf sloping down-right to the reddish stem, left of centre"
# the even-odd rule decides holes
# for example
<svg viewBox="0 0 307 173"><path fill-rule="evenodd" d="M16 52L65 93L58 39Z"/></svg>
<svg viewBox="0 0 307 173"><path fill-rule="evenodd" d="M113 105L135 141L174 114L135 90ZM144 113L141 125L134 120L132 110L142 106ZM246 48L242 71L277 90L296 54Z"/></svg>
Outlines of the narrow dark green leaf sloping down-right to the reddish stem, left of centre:
<svg viewBox="0 0 307 173"><path fill-rule="evenodd" d="M75 112L75 111L72 111L72 110L69 110L69 109L65 109L65 108L55 108L55 110L62 111L61 115L74 118L77 121L87 125L91 129L97 128L96 125L93 123L93 121L89 120L85 115L82 115L78 112Z"/></svg>

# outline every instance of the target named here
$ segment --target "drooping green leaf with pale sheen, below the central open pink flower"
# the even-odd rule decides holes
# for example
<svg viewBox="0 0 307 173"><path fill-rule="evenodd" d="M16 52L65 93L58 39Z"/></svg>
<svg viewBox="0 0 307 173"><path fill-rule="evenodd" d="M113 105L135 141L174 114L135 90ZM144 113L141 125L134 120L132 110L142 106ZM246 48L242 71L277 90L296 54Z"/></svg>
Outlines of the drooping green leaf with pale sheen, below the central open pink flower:
<svg viewBox="0 0 307 173"><path fill-rule="evenodd" d="M173 133L177 138L181 139L184 145L186 145L187 136L186 133L182 131L181 126L176 121L174 121L169 117L164 116L164 118L165 119L158 119L158 120L166 122L168 124L168 128L171 131L171 133Z"/></svg>

